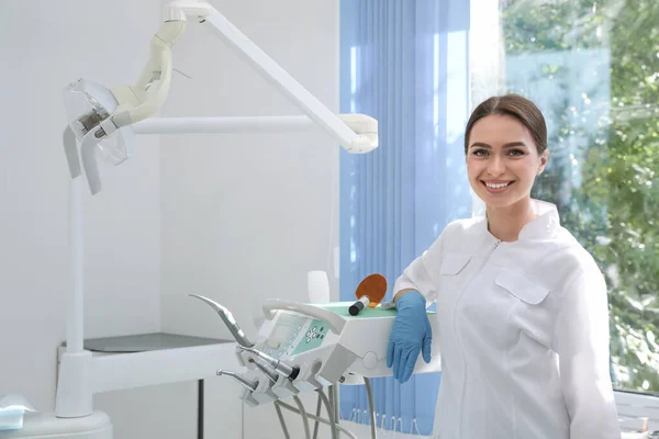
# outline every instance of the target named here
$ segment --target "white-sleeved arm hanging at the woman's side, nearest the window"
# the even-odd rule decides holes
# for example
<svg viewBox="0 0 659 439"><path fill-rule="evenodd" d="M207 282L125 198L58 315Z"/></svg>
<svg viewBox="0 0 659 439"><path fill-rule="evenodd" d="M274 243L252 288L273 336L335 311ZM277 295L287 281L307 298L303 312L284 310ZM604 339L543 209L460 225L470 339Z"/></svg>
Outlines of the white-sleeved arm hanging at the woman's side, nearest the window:
<svg viewBox="0 0 659 439"><path fill-rule="evenodd" d="M619 439L608 369L606 283L594 262L592 266L567 282L555 349L570 415L570 439Z"/></svg>

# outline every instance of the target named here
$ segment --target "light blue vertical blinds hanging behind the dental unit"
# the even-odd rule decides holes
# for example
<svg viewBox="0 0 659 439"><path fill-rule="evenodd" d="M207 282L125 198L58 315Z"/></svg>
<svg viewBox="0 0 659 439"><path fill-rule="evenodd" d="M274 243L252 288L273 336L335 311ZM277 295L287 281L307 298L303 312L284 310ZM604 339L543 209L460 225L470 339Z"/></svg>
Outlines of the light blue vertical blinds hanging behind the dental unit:
<svg viewBox="0 0 659 439"><path fill-rule="evenodd" d="M340 296L403 269L454 219L471 216L462 138L469 111L468 0L342 0L342 113L379 122L380 147L340 156ZM372 381L379 428L429 435L440 376ZM364 386L340 415L368 424Z"/></svg>

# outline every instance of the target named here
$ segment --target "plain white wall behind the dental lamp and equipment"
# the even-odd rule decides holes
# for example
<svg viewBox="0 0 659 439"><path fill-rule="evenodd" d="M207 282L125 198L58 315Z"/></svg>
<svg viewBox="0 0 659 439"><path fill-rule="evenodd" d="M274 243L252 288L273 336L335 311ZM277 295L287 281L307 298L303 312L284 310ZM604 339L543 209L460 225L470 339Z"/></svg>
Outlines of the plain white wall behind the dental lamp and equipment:
<svg viewBox="0 0 659 439"><path fill-rule="evenodd" d="M79 77L134 82L165 3L2 2L0 394L22 393L41 410L54 408L69 291L62 89ZM213 4L337 109L338 1ZM300 114L199 27L191 23L175 46L175 67L193 79L175 76L165 115ZM338 147L323 133L141 136L135 156L102 169L102 178L103 192L85 198L88 338L160 328L227 337L188 293L231 307L254 337L260 303L304 300L309 270L330 271L338 295ZM123 391L97 395L94 404L112 417L118 438L192 438L196 390ZM206 384L209 436L239 437L239 416L231 426L213 420L227 405L239 413L237 392L220 379ZM270 438L279 428L271 407L245 419L246 438Z"/></svg>

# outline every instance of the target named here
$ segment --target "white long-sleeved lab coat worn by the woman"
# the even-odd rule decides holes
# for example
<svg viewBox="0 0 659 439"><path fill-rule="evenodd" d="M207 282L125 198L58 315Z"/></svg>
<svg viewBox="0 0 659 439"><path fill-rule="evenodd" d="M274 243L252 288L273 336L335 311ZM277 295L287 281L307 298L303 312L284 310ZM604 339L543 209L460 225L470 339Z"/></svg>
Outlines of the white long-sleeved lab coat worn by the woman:
<svg viewBox="0 0 659 439"><path fill-rule="evenodd" d="M514 243L449 224L395 283L437 302L434 438L621 438L603 275L554 204L533 206Z"/></svg>

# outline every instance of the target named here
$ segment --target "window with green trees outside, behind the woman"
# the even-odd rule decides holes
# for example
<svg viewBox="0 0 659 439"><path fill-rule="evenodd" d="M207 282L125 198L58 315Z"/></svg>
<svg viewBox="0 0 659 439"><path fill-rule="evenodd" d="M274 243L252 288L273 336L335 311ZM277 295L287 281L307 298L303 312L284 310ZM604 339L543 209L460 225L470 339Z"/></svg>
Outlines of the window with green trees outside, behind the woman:
<svg viewBox="0 0 659 439"><path fill-rule="evenodd" d="M539 104L535 198L605 273L614 386L659 393L659 2L501 0L503 85Z"/></svg>

